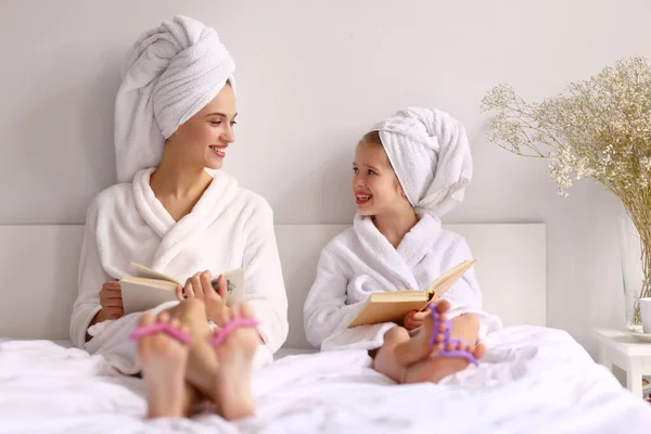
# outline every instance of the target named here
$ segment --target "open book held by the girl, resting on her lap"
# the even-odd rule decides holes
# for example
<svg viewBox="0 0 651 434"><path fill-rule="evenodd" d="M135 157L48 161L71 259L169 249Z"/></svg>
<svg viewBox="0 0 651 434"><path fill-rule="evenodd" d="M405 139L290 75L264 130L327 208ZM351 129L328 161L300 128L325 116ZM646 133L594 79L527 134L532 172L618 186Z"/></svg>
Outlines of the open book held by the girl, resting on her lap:
<svg viewBox="0 0 651 434"><path fill-rule="evenodd" d="M424 310L434 296L444 292L463 276L476 260L464 260L451 270L441 275L426 291L386 291L374 292L367 298L357 317L348 324L348 329L363 324L381 322L400 322L411 310Z"/></svg>

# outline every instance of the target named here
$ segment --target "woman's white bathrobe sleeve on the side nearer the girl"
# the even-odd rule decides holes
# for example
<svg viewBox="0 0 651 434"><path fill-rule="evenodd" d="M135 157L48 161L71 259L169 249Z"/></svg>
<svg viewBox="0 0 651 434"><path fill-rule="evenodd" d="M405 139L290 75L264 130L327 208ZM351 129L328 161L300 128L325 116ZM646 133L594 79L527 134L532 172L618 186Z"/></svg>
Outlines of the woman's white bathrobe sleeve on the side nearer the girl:
<svg viewBox="0 0 651 434"><path fill-rule="evenodd" d="M259 199L245 225L244 302L260 322L258 331L271 353L285 342L289 332L288 296L273 232L273 212Z"/></svg>

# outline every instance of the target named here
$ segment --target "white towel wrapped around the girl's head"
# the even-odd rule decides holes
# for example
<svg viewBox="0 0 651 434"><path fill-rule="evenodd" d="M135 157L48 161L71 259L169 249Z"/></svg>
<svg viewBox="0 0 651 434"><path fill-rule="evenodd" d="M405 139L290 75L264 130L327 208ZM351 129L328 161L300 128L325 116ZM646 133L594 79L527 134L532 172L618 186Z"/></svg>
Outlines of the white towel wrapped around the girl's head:
<svg viewBox="0 0 651 434"><path fill-rule="evenodd" d="M407 107L373 126L417 212L441 218L463 201L472 156L463 125L436 108Z"/></svg>

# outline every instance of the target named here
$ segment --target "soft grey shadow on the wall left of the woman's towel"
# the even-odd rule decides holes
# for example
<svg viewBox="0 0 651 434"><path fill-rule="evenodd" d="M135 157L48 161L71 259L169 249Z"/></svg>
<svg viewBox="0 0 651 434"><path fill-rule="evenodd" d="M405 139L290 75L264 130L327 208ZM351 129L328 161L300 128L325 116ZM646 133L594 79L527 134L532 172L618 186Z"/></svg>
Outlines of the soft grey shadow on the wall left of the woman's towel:
<svg viewBox="0 0 651 434"><path fill-rule="evenodd" d="M15 206L10 215L0 212L3 224L84 222L91 199L115 183L114 103L123 58L122 52L106 54L95 75L43 94L12 128L9 179L15 184L8 188Z"/></svg>

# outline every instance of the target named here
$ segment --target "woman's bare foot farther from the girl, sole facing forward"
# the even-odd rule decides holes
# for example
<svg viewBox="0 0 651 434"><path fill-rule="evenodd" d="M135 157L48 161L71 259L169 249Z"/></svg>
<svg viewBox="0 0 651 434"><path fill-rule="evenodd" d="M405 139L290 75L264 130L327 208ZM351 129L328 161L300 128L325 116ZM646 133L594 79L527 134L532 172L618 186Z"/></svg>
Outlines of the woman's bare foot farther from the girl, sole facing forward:
<svg viewBox="0 0 651 434"><path fill-rule="evenodd" d="M177 319L162 312L158 318L152 312L142 315L139 327L166 322L180 328ZM148 403L148 418L182 418L186 395L186 363L188 346L173 336L158 332L140 337L138 342L138 358L142 367L144 390Z"/></svg>

